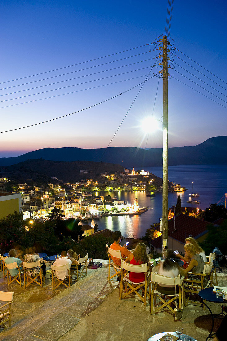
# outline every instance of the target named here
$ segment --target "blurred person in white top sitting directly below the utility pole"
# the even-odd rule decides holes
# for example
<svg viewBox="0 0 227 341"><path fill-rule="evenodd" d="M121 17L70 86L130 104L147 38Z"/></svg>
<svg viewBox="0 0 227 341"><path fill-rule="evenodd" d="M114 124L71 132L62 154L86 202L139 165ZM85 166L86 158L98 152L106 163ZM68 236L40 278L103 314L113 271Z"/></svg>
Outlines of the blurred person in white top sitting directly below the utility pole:
<svg viewBox="0 0 227 341"><path fill-rule="evenodd" d="M158 274L170 278L175 278L180 274L180 268L176 262L171 260L171 256L173 255L173 251L168 249L166 251L166 259L159 266ZM175 295L178 292L178 286L170 285L170 284L159 284L157 285L156 290L159 291L163 295Z"/></svg>

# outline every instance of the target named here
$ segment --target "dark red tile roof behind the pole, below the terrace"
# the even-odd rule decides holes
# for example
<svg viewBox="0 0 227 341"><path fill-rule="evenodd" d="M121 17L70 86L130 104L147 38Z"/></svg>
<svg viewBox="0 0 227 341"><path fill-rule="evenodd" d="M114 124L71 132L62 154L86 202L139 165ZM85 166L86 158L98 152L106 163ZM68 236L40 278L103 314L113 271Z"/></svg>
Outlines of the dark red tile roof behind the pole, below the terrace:
<svg viewBox="0 0 227 341"><path fill-rule="evenodd" d="M175 217L175 230L174 230L174 218L169 220L169 237L184 243L185 238L189 235L197 239L200 235L207 231L207 225L211 224L208 221L197 219L194 217L186 216L186 214L178 214ZM160 226L156 228L160 231ZM161 246L161 236L152 240L151 244L156 248Z"/></svg>

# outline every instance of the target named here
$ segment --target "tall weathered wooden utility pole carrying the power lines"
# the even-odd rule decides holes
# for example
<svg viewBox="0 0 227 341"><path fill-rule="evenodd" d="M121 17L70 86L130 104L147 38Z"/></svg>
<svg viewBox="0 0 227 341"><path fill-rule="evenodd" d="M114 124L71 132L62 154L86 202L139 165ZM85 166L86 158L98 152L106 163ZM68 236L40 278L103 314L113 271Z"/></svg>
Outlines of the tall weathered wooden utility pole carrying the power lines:
<svg viewBox="0 0 227 341"><path fill-rule="evenodd" d="M168 39L163 37L162 252L168 249Z"/></svg>

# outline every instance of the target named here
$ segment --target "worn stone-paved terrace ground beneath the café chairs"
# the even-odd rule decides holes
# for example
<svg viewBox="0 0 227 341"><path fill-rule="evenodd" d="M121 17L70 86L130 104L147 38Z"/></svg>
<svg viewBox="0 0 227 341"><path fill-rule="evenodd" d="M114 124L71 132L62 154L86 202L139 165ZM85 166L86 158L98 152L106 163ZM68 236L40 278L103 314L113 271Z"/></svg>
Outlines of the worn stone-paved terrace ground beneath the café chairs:
<svg viewBox="0 0 227 341"><path fill-rule="evenodd" d="M2 272L1 272L2 274ZM148 340L162 331L175 331L182 325L184 333L203 341L211 328L211 316L206 308L184 307L182 322L174 321L168 311L150 314L135 295L119 300L119 283L108 281L108 269L88 270L88 276L70 288L52 292L51 281L43 288L32 285L26 290L18 284L7 285L0 279L1 291L13 291L13 324L0 332L6 341L66 341L66 340ZM1 276L2 277L2 276ZM226 286L227 275L218 274L219 285ZM208 303L213 313L221 305ZM220 320L215 321L215 328Z"/></svg>

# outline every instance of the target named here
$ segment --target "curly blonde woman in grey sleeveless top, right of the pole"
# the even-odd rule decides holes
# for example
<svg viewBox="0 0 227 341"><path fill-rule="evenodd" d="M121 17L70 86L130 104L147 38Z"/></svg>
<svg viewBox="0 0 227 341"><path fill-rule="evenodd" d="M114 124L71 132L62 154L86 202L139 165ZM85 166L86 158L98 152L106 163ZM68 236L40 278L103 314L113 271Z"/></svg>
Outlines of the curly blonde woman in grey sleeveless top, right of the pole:
<svg viewBox="0 0 227 341"><path fill-rule="evenodd" d="M186 257L189 257L190 259L190 263L188 264L187 268L184 270L184 275L186 276L189 271L191 271L192 273L203 273L205 262L203 261L202 256L196 253L195 246L193 244L185 244L184 250L185 250ZM195 280L200 279L198 276L191 275L191 274L188 277L195 279ZM208 282L208 277L205 277L203 281L203 285L206 286L207 282Z"/></svg>

